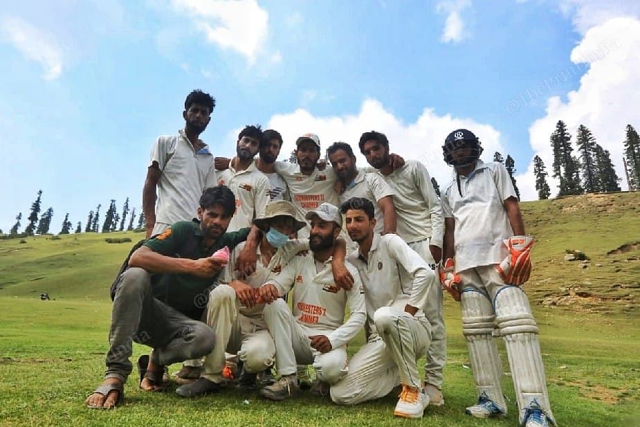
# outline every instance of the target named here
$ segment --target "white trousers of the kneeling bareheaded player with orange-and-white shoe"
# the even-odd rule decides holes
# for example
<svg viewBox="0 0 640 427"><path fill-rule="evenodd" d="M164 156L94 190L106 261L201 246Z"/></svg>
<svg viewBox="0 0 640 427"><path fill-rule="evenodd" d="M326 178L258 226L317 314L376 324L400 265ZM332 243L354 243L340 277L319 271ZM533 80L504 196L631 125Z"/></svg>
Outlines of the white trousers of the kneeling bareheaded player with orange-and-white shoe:
<svg viewBox="0 0 640 427"><path fill-rule="evenodd" d="M394 307L381 307L374 314L379 336L349 361L345 378L331 386L331 400L355 405L384 397L399 383L419 390L417 361L429 348L431 325Z"/></svg>

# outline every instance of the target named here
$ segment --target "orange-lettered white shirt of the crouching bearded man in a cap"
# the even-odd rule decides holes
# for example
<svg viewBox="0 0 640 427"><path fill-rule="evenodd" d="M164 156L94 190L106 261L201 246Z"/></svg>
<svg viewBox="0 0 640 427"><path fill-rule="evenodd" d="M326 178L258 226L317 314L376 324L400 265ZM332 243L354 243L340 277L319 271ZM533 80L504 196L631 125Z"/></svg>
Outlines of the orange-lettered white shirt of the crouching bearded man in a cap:
<svg viewBox="0 0 640 427"><path fill-rule="evenodd" d="M300 325L327 336L333 348L349 343L367 318L358 270L349 262L345 262L345 266L354 276L354 287L349 291L333 281L331 258L324 262L324 269L316 271L311 251L306 256L293 257L279 275L268 280L280 295L293 288L293 317ZM350 314L345 322L347 304Z"/></svg>

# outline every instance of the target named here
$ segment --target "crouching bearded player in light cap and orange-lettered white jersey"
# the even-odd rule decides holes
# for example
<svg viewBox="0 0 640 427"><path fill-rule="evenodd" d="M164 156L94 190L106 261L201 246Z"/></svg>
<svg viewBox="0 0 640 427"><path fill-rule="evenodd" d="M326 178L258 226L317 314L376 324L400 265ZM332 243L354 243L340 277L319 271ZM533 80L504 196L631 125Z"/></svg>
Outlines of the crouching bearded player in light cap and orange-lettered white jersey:
<svg viewBox="0 0 640 427"><path fill-rule="evenodd" d="M336 206L322 203L307 212L311 220L311 253L295 257L260 288L267 302L264 320L275 340L275 363L282 376L260 390L262 397L284 400L300 390L297 365L313 364L317 381L311 388L327 394L328 385L347 372L347 343L365 324L365 297L355 267L345 262L354 285L348 291L333 280L331 254L342 228ZM295 285L295 286L294 286ZM278 297L293 289L293 313ZM351 314L345 322L345 309Z"/></svg>

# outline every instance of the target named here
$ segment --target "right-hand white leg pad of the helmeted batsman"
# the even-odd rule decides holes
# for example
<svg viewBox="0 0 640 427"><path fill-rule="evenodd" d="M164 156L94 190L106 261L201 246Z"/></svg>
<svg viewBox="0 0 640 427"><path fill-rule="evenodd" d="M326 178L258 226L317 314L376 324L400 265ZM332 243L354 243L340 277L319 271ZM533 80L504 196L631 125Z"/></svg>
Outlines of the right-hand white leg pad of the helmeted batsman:
<svg viewBox="0 0 640 427"><path fill-rule="evenodd" d="M519 287L506 286L495 294L495 314L506 344L513 386L518 399L520 424L527 409L539 408L556 424L551 413L545 366L540 354L538 325L531 314L529 299Z"/></svg>

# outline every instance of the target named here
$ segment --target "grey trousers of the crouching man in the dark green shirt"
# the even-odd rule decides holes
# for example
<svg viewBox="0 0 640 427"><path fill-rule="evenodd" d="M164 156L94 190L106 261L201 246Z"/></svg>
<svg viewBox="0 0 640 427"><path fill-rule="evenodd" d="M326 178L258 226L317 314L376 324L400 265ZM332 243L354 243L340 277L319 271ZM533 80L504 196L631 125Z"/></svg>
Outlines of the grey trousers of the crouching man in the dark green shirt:
<svg viewBox="0 0 640 427"><path fill-rule="evenodd" d="M152 347L152 360L159 365L201 358L211 352L213 330L154 298L149 272L131 267L119 280L111 309L105 378L127 381L134 341Z"/></svg>

